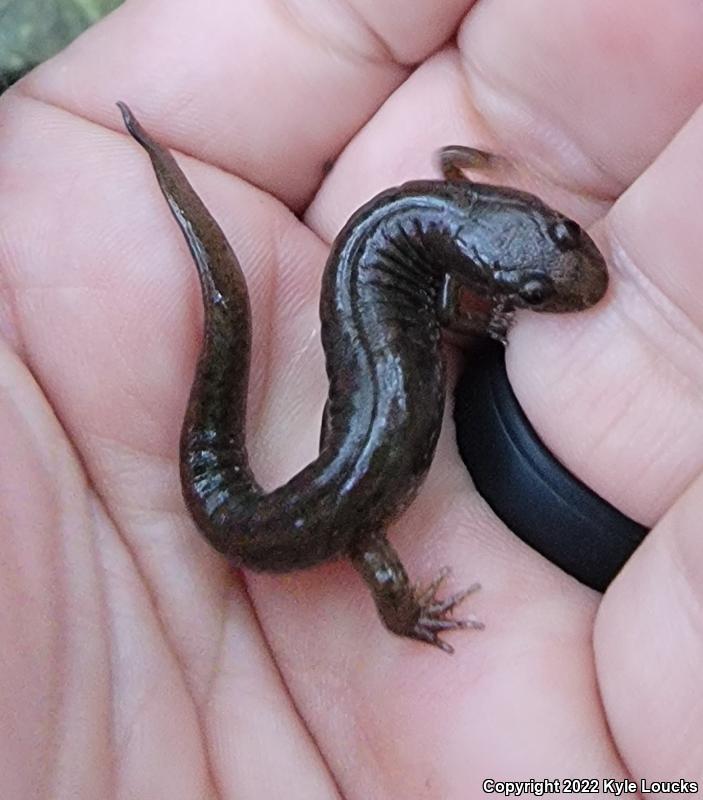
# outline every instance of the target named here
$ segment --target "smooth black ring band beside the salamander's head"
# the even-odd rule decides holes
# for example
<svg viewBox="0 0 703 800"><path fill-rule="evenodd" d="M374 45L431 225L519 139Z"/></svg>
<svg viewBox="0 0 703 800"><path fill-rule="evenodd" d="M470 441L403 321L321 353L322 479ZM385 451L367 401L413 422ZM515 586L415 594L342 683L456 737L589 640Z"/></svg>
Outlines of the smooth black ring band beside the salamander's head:
<svg viewBox="0 0 703 800"><path fill-rule="evenodd" d="M520 407L494 342L472 354L456 389L461 457L476 488L523 541L599 591L648 529L575 478L540 441Z"/></svg>

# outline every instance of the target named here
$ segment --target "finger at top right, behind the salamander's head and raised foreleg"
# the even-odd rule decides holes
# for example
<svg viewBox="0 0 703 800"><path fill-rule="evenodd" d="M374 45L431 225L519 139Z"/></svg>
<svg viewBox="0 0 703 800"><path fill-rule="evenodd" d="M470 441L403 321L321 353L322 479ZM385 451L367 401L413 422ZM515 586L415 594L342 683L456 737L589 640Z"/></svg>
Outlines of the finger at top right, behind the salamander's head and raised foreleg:
<svg viewBox="0 0 703 800"><path fill-rule="evenodd" d="M309 221L331 239L376 190L436 174L433 151L458 142L529 167L489 180L591 222L703 99L702 26L679 0L479 4L459 58L449 48L394 92L338 159Z"/></svg>

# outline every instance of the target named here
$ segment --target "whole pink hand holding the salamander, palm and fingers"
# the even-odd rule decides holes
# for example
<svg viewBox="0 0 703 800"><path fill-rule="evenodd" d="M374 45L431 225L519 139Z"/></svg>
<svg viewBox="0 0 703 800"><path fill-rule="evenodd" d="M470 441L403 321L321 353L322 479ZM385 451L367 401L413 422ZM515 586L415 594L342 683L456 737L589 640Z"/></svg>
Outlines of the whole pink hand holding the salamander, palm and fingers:
<svg viewBox="0 0 703 800"><path fill-rule="evenodd" d="M4 97L3 796L464 798L486 776L701 779L703 718L686 704L703 647L687 616L701 602L700 115L669 145L699 99L694 11L664 23L628 4L495 0L437 54L468 5L442 19L429 0L412 18L379 3L362 21L133 2ZM628 42L629 61L613 49ZM402 64L424 59L408 77ZM181 163L249 277L266 485L315 452L319 274L361 201L427 175L451 141L558 179L527 185L585 220L633 184L596 227L606 302L526 315L509 351L565 463L644 522L671 508L600 608L490 516L449 425L394 541L418 578L444 563L457 586L480 578L487 630L454 635L453 658L387 634L343 563L240 576L208 549L176 465L196 276L117 99L197 159Z"/></svg>

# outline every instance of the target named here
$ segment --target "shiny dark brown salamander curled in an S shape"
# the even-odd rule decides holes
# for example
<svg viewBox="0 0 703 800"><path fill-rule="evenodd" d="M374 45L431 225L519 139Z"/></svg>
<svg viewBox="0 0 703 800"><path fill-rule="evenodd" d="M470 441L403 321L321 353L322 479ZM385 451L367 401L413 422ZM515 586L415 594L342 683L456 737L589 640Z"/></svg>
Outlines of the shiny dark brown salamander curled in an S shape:
<svg viewBox="0 0 703 800"><path fill-rule="evenodd" d="M472 591L436 597L444 570L413 586L386 538L429 469L442 420L442 327L505 342L511 313L577 311L608 278L592 240L537 197L469 181L491 156L440 153L445 180L405 183L359 209L335 239L320 318L329 399L318 457L264 492L245 443L251 343L244 275L224 234L176 165L127 106L125 125L149 154L198 268L205 336L181 436L186 504L235 564L285 572L348 557L394 633L452 652L442 631ZM461 293L474 298L462 308Z"/></svg>

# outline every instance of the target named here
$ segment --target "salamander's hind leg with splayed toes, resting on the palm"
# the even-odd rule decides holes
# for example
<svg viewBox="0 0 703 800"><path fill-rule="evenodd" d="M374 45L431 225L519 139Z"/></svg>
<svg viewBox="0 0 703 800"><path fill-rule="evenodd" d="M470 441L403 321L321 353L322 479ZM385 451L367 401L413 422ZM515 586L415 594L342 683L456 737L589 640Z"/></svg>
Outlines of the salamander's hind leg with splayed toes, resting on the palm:
<svg viewBox="0 0 703 800"><path fill-rule="evenodd" d="M437 599L437 590L449 569L441 570L425 588L413 586L398 554L383 534L369 537L350 556L371 589L383 624L392 633L428 642L445 653L453 653L454 648L440 639L440 633L460 628L483 628L483 624L474 619L454 619L451 616L454 608L479 588L478 584L450 595L446 600Z"/></svg>

